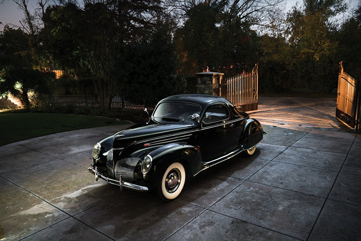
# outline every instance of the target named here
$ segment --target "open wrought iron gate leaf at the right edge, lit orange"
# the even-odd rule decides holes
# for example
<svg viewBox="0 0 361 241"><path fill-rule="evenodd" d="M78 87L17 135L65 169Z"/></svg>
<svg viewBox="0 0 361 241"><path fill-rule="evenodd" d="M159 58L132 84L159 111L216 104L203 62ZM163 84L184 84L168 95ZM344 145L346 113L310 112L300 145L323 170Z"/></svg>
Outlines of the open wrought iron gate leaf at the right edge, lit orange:
<svg viewBox="0 0 361 241"><path fill-rule="evenodd" d="M336 117L359 131L360 124L360 82L343 72L342 61L337 88Z"/></svg>

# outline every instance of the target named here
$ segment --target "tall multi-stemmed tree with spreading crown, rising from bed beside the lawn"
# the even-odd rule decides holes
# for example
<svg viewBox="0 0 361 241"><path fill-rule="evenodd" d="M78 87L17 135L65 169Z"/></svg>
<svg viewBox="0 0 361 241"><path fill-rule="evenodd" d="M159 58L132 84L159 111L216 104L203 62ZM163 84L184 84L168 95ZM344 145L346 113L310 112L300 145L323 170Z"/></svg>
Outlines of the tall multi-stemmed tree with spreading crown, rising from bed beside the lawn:
<svg viewBox="0 0 361 241"><path fill-rule="evenodd" d="M108 0L84 1L84 9L73 3L48 8L44 43L52 39L58 44L60 57L52 56L59 65L66 66L64 56L71 56L74 65L79 63L81 75L91 75L100 106L109 109L116 94L117 73L112 70L118 51L154 25L162 10L159 4L159 0Z"/></svg>

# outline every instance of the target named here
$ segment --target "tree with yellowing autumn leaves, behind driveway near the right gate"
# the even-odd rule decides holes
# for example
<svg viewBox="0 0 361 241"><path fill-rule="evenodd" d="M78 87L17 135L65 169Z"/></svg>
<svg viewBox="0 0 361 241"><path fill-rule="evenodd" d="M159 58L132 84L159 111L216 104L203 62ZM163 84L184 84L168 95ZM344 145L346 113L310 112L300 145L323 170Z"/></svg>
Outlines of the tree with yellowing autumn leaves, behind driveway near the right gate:
<svg viewBox="0 0 361 241"><path fill-rule="evenodd" d="M329 19L325 10L310 12L307 8L293 8L288 12L285 34L289 36L288 44L295 51L296 60L293 86L330 92L337 85L338 42L333 39L334 27Z"/></svg>

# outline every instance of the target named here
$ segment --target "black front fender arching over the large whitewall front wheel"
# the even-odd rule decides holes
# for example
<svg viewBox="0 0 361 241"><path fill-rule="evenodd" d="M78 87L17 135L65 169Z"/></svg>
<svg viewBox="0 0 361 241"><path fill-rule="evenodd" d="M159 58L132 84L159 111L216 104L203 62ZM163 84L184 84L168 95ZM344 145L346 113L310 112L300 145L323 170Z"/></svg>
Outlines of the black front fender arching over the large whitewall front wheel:
<svg viewBox="0 0 361 241"><path fill-rule="evenodd" d="M151 171L144 174L144 180L151 185L151 188L158 185L159 178L164 175L168 166L176 161L181 162L186 169L186 178L203 169L199 147L184 142L161 146L148 155L152 156L153 162Z"/></svg>

